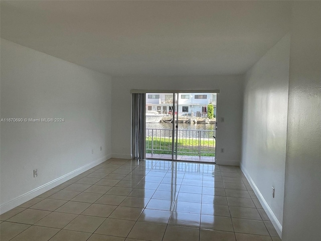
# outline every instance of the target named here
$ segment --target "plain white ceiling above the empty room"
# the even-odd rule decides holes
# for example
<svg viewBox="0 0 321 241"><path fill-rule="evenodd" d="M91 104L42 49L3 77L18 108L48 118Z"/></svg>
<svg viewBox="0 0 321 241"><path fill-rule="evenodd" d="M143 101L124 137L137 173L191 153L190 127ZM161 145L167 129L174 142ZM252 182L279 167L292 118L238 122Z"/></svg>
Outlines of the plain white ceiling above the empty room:
<svg viewBox="0 0 321 241"><path fill-rule="evenodd" d="M113 76L240 74L288 31L288 1L1 1L1 37Z"/></svg>

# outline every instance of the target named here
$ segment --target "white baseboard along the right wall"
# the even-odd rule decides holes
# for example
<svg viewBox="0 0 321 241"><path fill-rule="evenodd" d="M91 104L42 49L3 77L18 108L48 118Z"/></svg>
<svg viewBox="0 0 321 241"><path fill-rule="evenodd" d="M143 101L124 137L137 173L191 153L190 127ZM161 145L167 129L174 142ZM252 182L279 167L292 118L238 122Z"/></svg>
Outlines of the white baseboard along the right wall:
<svg viewBox="0 0 321 241"><path fill-rule="evenodd" d="M249 175L249 173L246 171L246 169L242 165L241 165L241 170L242 170L243 174L245 175L247 181L249 182L250 186L252 187L255 195L257 196L257 198L258 198L260 204L262 205L264 211L266 212L267 216L270 218L270 220L271 220L276 232L279 234L280 237L282 237L282 224L277 219L277 217L273 213L272 209L270 208L270 206L265 201L265 199L264 199L263 195L261 194L260 190L255 185L255 183L252 180L251 176Z"/></svg>

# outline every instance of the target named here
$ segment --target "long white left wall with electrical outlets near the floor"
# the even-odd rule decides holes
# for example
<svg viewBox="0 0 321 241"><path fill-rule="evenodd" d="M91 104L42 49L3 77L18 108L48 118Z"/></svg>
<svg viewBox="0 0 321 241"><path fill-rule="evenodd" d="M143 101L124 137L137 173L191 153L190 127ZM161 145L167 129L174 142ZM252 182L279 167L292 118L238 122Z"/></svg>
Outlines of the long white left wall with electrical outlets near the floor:
<svg viewBox="0 0 321 241"><path fill-rule="evenodd" d="M1 123L1 212L105 161L110 113L108 76L1 39L1 118L65 120Z"/></svg>

